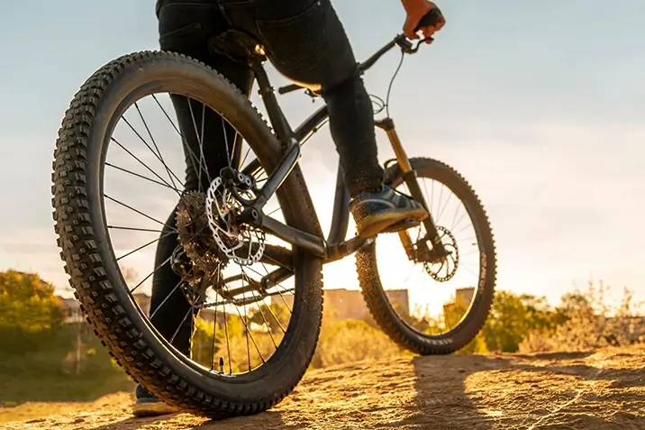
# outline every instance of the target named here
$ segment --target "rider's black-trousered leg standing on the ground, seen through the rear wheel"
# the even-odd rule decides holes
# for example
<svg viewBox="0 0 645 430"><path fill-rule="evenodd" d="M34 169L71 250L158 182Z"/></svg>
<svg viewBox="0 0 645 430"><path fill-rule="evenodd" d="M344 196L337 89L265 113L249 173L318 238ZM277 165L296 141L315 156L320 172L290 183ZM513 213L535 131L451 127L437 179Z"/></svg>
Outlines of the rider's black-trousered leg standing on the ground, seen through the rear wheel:
<svg viewBox="0 0 645 430"><path fill-rule="evenodd" d="M219 8L213 5L213 1L204 0L200 3L198 0L162 0L159 6L159 44L162 50L179 52L203 61L213 69L217 69L242 92L249 94L252 84L250 69L244 64L233 62L208 50L207 43L210 36L222 32L227 25ZM222 121L219 114L206 109L204 144L200 145L202 105L195 101L191 101L189 105L184 96L171 96L171 99L177 114L178 127L184 136L183 149L186 159L184 188L204 192L210 185L210 180L219 176L220 169L228 164L225 142L232 144L235 132L229 124ZM203 160L201 178L200 160ZM154 316L150 320L159 333L177 350L189 356L196 313L191 312L192 306L178 287L183 280L172 270L168 261L178 245L176 211L177 207L168 216L157 247L155 258L157 270L152 277L152 297L150 297L150 315ZM141 386L137 387L135 394L137 403L134 413L136 415L159 415L171 411Z"/></svg>

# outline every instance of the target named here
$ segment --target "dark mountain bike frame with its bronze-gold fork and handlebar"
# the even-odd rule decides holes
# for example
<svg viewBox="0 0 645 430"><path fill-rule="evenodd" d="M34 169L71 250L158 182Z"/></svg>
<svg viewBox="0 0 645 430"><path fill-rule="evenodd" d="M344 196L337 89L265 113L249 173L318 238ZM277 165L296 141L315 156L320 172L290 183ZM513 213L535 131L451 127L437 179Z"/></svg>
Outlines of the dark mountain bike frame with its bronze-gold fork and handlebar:
<svg viewBox="0 0 645 430"><path fill-rule="evenodd" d="M408 41L404 37L404 35L397 35L394 40L389 41L383 48L377 50L377 52L369 59L359 64L360 73L362 74L366 72L377 62L378 59L380 59L389 50L392 50L395 46L399 46L404 51L404 53L415 53L419 49L422 42L423 41L419 41L416 46L413 46L413 43L411 41ZM271 172L271 174L268 176L266 184L263 188L260 189L259 196L255 200L250 202L250 205L248 205L242 211L240 215L240 221L243 223L255 225L259 228L264 229L265 231L268 231L269 233L276 235L285 242L289 242L291 244L294 244L295 246L302 247L308 252L312 252L314 255L321 257L324 263L341 260L351 253L358 251L362 246L374 242L374 237L362 238L359 236L345 241L350 221L350 195L347 188L345 187L345 181L340 164L336 178L332 226L330 228L330 232L326 241L322 236L317 236L312 233L306 233L297 230L294 227L283 224L276 219L262 213L262 209L264 206L266 206L268 199L276 193L277 188L282 185L282 183L297 165L297 162L301 156L301 144L311 134L315 133L318 130L319 126L328 117L328 112L327 106L323 105L313 114L311 114L307 119L305 119L304 122L300 124L295 130L293 130L286 120L285 114L277 103L275 89L271 86L268 80L267 72L263 67L263 63L264 61L266 61L264 52L261 50L261 48L259 48L259 44L251 47L249 42L247 42L246 49L247 53L249 54L250 68L253 70L255 78L259 84L259 96L262 97L262 101L267 109L269 121L273 126L278 140L282 142L284 152L282 160L280 160L277 164L277 168L274 169L273 172ZM278 92L280 94L286 94L297 89L307 88L293 84L279 88ZM311 90L309 90L309 94L310 96L315 96ZM422 196L421 188L419 188L418 182L416 181L416 174L410 164L410 160L405 154L401 141L399 140L398 135L395 131L395 124L393 120L389 117L386 117L382 120L376 120L375 124L378 128L384 130L387 133L389 141L395 151L396 161L399 165L399 168L403 172L404 181L410 189L413 198L422 203L422 205L427 209L428 207L425 199ZM239 145L236 145L236 147L238 146ZM254 174L259 172L259 169L259 161L252 160L250 164L245 169L243 169L242 173L249 176L254 176ZM306 186L304 192L306 192L307 195L309 194ZM441 239L439 238L436 226L432 220L432 215L429 216L423 223L426 227L426 231L429 233L429 239L433 245L432 251L435 252L434 255L440 258L445 256L446 252L443 249ZM410 250L413 249L413 243L410 239L409 234L406 231L403 231L399 232L399 236L404 244L404 249L406 250L406 252L411 252Z"/></svg>

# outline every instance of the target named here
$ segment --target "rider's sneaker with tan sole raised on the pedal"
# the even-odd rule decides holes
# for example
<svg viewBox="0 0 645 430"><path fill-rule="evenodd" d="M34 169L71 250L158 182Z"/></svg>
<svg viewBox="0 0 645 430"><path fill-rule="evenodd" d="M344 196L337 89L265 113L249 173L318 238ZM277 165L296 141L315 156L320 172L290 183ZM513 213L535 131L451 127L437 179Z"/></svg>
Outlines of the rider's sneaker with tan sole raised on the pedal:
<svg viewBox="0 0 645 430"><path fill-rule="evenodd" d="M376 193L362 193L350 203L359 236L394 233L419 225L428 217L422 204L384 186Z"/></svg>

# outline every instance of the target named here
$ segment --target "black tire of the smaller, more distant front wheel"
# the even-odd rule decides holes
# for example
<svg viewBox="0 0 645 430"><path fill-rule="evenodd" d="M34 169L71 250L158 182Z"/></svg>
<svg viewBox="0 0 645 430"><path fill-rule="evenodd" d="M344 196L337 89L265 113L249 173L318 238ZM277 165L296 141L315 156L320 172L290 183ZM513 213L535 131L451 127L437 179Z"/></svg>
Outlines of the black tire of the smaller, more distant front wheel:
<svg viewBox="0 0 645 430"><path fill-rule="evenodd" d="M468 315L449 333L433 336L422 334L400 318L386 297L378 275L376 242L356 253L356 269L369 312L390 339L402 348L421 355L450 354L472 341L486 323L495 292L495 240L486 211L466 179L441 161L414 158L410 162L417 172L417 177L432 178L450 188L465 204L468 215L474 220L473 224L479 236L478 242L480 247L484 248L484 252L480 254L482 269L477 293ZM392 188L403 183L403 173L397 164L386 170L386 178L391 181Z"/></svg>

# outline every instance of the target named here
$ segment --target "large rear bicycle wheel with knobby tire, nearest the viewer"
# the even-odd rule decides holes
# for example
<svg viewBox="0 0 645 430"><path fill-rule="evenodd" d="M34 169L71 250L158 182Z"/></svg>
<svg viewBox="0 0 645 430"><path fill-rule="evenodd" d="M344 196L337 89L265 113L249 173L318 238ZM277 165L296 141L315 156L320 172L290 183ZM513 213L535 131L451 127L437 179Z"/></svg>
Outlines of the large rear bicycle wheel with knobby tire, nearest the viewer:
<svg viewBox="0 0 645 430"><path fill-rule="evenodd" d="M162 96L168 95L177 96L175 100L186 100L194 115L193 125L177 127L174 124L169 118L174 114L172 105L168 103L164 109L159 102ZM152 120L149 117L146 122L142 111L146 104L144 97L149 96L150 108L156 109L156 116ZM115 59L97 70L71 102L59 131L52 176L55 230L70 284L76 289L89 322L95 325L95 334L132 378L168 404L183 410L211 417L240 416L276 405L303 377L320 332L322 262L284 242L279 246L265 243L268 238L258 233L264 248L262 258L268 257L274 266L291 270L292 288L268 281L268 270L261 266L253 269L248 263L241 275L223 275L223 270L250 258L251 253L256 255L254 252L259 249L260 242L241 240L235 252L244 251L244 255L232 256L230 252L234 250L229 250L223 256L222 249L214 251L218 243L231 242L232 235L214 243L215 233L208 229L212 219L208 221L204 215L207 207L215 205L206 203L205 188L212 192L214 197L208 196L219 202L217 205L231 197L231 193L222 191L223 186L213 188L216 182L213 178L220 172L209 172L205 165L202 166L204 152L212 151L212 147L200 146L200 150L189 157L199 164L200 185L195 190L186 193L183 179L174 173L177 169L170 167L173 160L179 160L181 167L178 169L186 169L183 157L177 156L181 154L186 135L196 133L200 145L203 143L204 120L200 121L199 117L204 119L207 110L221 114L222 121L228 122L236 133L235 143L227 144L231 145L232 153L241 154L238 158L241 170L245 160L253 160L253 157L248 158L243 151L234 151L235 145L246 144L249 151L255 152L259 163L256 168L247 170L253 176L249 183L261 184L280 160L279 142L248 98L213 69L174 53L140 52ZM163 132L156 131L155 126L166 120L173 126ZM135 127L137 124L139 127ZM117 132L121 133L119 137ZM128 148L124 142L126 138L138 144L138 149ZM208 139L216 142L212 141L213 136ZM164 157L159 148L172 142L176 152ZM113 155L117 156L116 160ZM106 160L108 156L110 161ZM122 161L129 162L127 166L132 167L125 167ZM163 165L159 173L150 168L148 161ZM108 171L110 175L122 176L116 182L107 181ZM141 181L141 178L147 180ZM202 178L208 178L204 185ZM130 179L132 185L124 182ZM139 181L134 182L135 179ZM114 193L125 190L129 196L117 199L113 191L108 194L107 188L114 184L118 185L113 188ZM152 184L150 187L156 184L158 188L143 188L146 184ZM166 197L163 192L168 193ZM132 193L137 194L132 197ZM174 217L172 208L177 200L180 201L177 227L168 228L170 221L159 219L166 220L170 213ZM150 210L164 202L169 202L170 206L160 218L144 213L141 206L146 202ZM234 204L231 201L224 203ZM294 169L277 190L277 204L278 215L284 217L286 224L320 234L299 168ZM226 210L233 211L232 206L226 206ZM120 224L112 215L120 218ZM207 220L205 224L204 219ZM123 226L128 222L130 227ZM141 224L143 222L150 225ZM115 235L123 231L127 237ZM230 231L241 232L235 233L241 237L250 229L235 226ZM153 236L152 240L149 236L149 243L132 244L133 238L150 232ZM164 240L171 233L177 233L178 242L174 240L173 244L178 246L177 255L173 254L172 260L162 261L154 270L162 270L172 263L173 270L175 266L177 270L183 270L182 280L168 295L175 298L158 299L155 312L168 306L170 301L187 302L187 312L182 309L181 315L175 315L170 309L167 319L180 322L174 334L172 327L168 335L162 335L159 326L150 322L152 316L149 320L147 312L134 297L146 288L146 279L151 279L152 273L139 283L130 282L120 264L132 255L140 255L149 244ZM272 256L269 251L274 252ZM254 263L262 261L254 260ZM152 264L149 268L153 269ZM229 282L237 282L238 287L232 288ZM286 297L281 300L283 290ZM183 301L177 302L177 295ZM277 300L264 302L270 297ZM181 326L186 319L198 321L207 310L210 310L210 319L195 322L203 329L199 336L195 334L199 339L193 339L190 352L181 351L173 340L182 330ZM232 332L237 336L234 342ZM189 336L186 335L186 342L189 342ZM236 352L248 354L248 358L233 357Z"/></svg>

